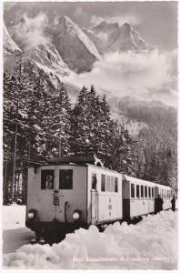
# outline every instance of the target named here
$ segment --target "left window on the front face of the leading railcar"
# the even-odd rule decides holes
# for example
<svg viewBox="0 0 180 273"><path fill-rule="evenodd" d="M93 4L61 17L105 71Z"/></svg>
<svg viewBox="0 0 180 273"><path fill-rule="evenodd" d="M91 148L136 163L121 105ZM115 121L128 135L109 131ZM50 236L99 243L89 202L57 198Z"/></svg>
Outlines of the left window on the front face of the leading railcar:
<svg viewBox="0 0 180 273"><path fill-rule="evenodd" d="M41 189L54 189L55 171L43 169L41 171Z"/></svg>

